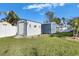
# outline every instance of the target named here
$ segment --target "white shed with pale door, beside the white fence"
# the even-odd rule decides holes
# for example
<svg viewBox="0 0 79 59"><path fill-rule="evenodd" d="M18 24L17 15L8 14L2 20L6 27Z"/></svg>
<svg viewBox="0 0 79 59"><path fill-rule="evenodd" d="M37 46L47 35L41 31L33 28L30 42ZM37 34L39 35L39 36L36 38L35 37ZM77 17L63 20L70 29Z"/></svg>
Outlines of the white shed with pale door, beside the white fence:
<svg viewBox="0 0 79 59"><path fill-rule="evenodd" d="M17 23L17 34L21 36L34 36L41 34L41 23L30 21L30 20L20 20Z"/></svg>

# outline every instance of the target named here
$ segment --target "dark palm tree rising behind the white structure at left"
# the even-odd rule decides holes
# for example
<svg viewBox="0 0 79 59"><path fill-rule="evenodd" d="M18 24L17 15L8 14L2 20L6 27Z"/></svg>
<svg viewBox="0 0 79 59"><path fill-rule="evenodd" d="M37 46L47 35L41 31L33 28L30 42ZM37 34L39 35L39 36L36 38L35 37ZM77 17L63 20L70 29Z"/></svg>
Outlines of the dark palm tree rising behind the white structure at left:
<svg viewBox="0 0 79 59"><path fill-rule="evenodd" d="M0 12L0 14L5 14L6 17L3 18L3 20L9 22L12 25L16 25L17 21L20 19L14 11Z"/></svg>

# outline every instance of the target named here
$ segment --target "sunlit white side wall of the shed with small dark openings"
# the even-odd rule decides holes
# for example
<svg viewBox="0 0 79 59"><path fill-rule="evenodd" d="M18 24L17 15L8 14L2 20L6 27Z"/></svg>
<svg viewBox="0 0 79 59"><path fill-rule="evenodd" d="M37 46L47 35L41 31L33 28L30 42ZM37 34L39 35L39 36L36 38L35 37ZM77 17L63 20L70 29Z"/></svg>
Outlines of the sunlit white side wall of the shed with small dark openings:
<svg viewBox="0 0 79 59"><path fill-rule="evenodd" d="M41 24L37 22L27 21L27 36L40 35Z"/></svg>

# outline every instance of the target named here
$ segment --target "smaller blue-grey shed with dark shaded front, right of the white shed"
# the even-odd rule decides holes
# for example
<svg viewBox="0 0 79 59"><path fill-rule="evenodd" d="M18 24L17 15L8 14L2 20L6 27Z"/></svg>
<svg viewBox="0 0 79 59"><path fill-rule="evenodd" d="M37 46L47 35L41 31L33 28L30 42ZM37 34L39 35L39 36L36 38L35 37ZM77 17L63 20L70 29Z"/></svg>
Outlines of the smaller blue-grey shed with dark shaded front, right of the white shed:
<svg viewBox="0 0 79 59"><path fill-rule="evenodd" d="M53 34L56 33L56 23L46 23L41 25L42 34Z"/></svg>

